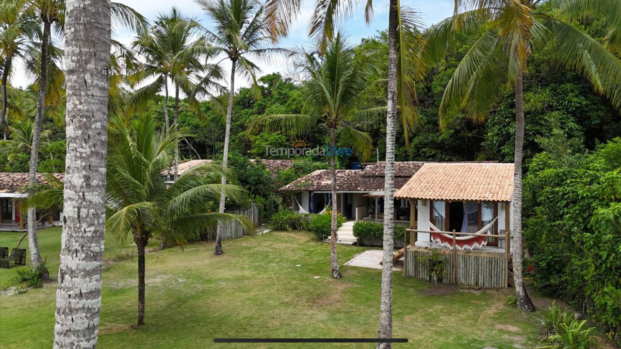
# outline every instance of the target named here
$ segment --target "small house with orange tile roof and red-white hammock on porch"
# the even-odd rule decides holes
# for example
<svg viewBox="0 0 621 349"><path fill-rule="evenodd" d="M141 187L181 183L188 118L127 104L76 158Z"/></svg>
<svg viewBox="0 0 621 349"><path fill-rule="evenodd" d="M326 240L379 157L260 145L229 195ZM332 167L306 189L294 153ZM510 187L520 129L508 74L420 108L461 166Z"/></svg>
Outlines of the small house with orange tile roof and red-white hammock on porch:
<svg viewBox="0 0 621 349"><path fill-rule="evenodd" d="M425 163L395 193L417 207L404 274L429 278L424 260L437 251L444 283L507 287L513 176L510 163Z"/></svg>

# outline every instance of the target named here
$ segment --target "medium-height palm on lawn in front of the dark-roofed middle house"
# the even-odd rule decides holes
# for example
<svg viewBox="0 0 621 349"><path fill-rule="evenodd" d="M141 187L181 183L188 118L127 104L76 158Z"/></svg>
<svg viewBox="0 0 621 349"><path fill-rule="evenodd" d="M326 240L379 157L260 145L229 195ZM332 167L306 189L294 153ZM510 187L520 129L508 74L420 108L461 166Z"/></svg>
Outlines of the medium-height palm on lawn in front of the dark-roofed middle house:
<svg viewBox="0 0 621 349"><path fill-rule="evenodd" d="M308 132L324 126L330 134L330 174L332 181L332 227L330 232L330 268L332 277L340 278L337 240L337 173L336 147L351 147L363 158L371 155L371 137L358 129L356 122L376 117L386 111L383 107L360 111L361 97L369 86L369 78L378 73L369 53L356 55L341 34L336 35L321 58L314 53L304 54L302 66L309 76L302 88L306 103L305 114L285 114L258 117L248 132L266 129L271 132ZM337 143L338 138L338 143ZM392 260L391 260L392 261Z"/></svg>

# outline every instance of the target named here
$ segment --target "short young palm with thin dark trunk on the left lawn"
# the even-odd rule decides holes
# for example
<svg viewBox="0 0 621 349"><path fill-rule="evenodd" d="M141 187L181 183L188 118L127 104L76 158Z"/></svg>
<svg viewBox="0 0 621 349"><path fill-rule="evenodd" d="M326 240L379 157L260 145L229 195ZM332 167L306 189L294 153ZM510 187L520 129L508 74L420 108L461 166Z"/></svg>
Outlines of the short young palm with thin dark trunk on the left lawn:
<svg viewBox="0 0 621 349"><path fill-rule="evenodd" d="M196 166L181 174L173 184L166 183L175 146L188 134L174 125L168 130L158 130L150 116L135 119L130 125L118 119L111 119L111 122L115 124L108 129L103 201L106 233L119 242L125 242L128 234L134 238L138 252L137 324L142 325L145 319L145 247L151 237L165 240L167 245L181 245L188 237L213 229L219 222L237 220L248 231L252 231L253 225L242 215L204 213L207 202L218 200L220 193L237 199L243 191L232 184L219 184L224 171L216 163ZM27 207L48 209L62 200L59 193L63 189L58 186L39 184L35 188L36 194L24 202Z"/></svg>

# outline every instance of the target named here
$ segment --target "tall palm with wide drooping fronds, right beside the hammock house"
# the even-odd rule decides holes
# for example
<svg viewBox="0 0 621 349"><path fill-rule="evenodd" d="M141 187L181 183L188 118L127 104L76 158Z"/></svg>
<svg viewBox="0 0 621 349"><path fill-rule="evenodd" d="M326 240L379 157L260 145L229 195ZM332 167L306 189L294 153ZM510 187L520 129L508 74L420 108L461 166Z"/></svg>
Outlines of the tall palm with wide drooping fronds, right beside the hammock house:
<svg viewBox="0 0 621 349"><path fill-rule="evenodd" d="M580 71L596 91L609 97L616 109L621 109L621 61L569 22L577 16L590 16L607 9L602 15L617 20L618 24L619 1L559 0L551 2L558 7L553 12L542 11L539 2L455 1L455 15L433 25L425 34L425 54L432 61L443 57L456 34L478 37L446 86L440 104L441 125L461 111L473 120L486 119L504 96L503 86L515 87L512 258L517 304L528 311L535 310L522 281L523 78L528 73L528 57L535 50L546 50L553 65Z"/></svg>

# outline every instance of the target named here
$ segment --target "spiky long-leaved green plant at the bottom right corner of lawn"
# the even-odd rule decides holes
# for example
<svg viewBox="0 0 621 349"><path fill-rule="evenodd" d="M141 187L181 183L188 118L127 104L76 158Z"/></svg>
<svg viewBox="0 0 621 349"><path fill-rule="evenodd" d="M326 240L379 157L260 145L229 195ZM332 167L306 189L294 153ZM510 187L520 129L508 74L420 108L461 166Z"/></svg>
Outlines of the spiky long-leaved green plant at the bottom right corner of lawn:
<svg viewBox="0 0 621 349"><path fill-rule="evenodd" d="M544 338L540 349L591 349L597 348L595 327L586 327L586 320L577 320L571 313L552 303L540 318Z"/></svg>

